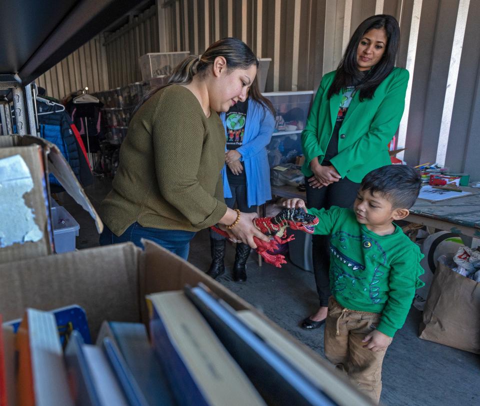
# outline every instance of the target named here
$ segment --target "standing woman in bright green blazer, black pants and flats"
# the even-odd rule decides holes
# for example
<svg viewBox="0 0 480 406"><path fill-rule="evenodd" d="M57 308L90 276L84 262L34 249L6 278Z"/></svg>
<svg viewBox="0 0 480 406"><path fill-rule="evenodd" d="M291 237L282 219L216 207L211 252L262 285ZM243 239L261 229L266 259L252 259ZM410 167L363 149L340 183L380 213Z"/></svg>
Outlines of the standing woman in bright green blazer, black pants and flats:
<svg viewBox="0 0 480 406"><path fill-rule="evenodd" d="M374 15L355 30L333 72L323 76L301 134L309 207L352 207L365 174L390 164L387 144L405 103L408 71L394 67L400 30L391 15ZM326 318L329 238L313 236L313 272L319 309L307 330Z"/></svg>

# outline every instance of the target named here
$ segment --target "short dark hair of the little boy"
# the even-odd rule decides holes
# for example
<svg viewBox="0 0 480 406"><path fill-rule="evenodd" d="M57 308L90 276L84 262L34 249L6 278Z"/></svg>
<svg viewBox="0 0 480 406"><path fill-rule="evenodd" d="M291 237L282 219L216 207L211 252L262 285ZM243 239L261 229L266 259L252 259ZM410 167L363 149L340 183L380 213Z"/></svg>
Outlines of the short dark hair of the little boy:
<svg viewBox="0 0 480 406"><path fill-rule="evenodd" d="M408 165L385 165L368 172L360 189L378 192L391 202L393 209L409 209L420 192L419 173Z"/></svg>

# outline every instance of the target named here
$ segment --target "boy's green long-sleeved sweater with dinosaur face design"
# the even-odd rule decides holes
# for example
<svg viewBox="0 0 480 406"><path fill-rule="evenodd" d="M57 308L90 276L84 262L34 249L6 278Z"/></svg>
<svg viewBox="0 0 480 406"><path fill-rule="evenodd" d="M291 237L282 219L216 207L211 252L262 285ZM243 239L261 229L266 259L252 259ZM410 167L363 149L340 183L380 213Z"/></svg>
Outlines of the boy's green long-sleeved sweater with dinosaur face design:
<svg viewBox="0 0 480 406"><path fill-rule="evenodd" d="M318 217L314 234L330 235L330 290L343 307L381 313L377 330L389 337L403 326L415 289L423 286L418 247L395 225L377 235L353 210L308 209Z"/></svg>

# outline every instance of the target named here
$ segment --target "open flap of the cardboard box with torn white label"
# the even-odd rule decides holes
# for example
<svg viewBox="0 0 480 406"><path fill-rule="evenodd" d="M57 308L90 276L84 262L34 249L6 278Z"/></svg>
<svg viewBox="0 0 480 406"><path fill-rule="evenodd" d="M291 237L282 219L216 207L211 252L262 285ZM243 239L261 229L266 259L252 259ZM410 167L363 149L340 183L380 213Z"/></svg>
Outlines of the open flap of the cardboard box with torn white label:
<svg viewBox="0 0 480 406"><path fill-rule="evenodd" d="M0 147L6 146L28 146L32 144L40 145L44 151L44 156L48 161L48 172L51 172L58 179L65 191L85 209L95 221L96 230L100 234L103 231L103 224L100 216L97 214L90 200L86 196L82 186L76 179L75 174L71 170L70 165L66 162L58 147L39 137L31 135L11 135L1 137Z"/></svg>

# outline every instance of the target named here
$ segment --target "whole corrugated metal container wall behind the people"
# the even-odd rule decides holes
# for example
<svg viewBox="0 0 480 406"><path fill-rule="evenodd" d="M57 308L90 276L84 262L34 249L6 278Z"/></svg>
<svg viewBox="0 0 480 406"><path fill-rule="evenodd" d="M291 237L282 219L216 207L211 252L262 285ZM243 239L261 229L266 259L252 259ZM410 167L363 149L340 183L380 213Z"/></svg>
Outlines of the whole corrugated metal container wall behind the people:
<svg viewBox="0 0 480 406"><path fill-rule="evenodd" d="M358 23L376 13L398 19L397 65L410 72L398 133L404 159L414 165L437 161L480 179L480 1L158 0L105 37L108 80L95 38L88 49L96 61L82 64L88 58L84 45L39 82L59 96L85 85L122 86L140 80L138 57L144 53L198 54L216 39L236 36L258 56L272 58L267 91L315 90L338 64ZM88 74L93 79L85 83Z"/></svg>

